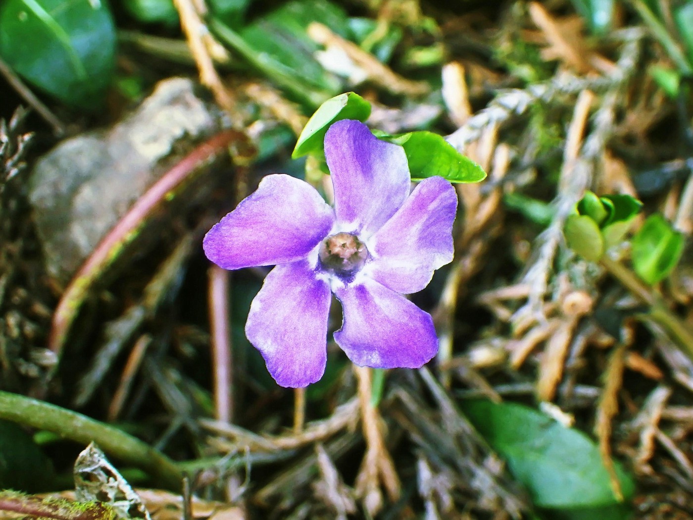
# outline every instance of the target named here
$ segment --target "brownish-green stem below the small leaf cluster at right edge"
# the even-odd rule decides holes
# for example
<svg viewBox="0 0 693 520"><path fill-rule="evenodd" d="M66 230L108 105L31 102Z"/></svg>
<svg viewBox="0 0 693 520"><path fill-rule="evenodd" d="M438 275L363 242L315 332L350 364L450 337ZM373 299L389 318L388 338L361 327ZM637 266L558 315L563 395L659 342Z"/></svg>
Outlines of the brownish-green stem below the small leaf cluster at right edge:
<svg viewBox="0 0 693 520"><path fill-rule="evenodd" d="M642 302L650 306L647 316L658 323L691 359L693 359L693 333L665 303L651 291L631 270L622 263L606 256L602 257L602 266Z"/></svg>

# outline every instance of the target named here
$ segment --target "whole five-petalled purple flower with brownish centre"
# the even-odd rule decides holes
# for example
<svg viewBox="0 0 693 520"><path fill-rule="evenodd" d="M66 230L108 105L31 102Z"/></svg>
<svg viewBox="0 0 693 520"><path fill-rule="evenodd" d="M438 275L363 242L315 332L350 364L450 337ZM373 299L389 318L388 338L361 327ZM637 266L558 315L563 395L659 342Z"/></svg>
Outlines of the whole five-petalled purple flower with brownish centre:
<svg viewBox="0 0 693 520"><path fill-rule="evenodd" d="M331 293L344 321L335 341L357 365L419 368L435 356L430 314L403 295L421 291L453 259L457 195L442 177L410 194L403 148L359 121L325 136L331 208L306 182L267 175L204 237L225 269L275 265L250 306L245 334L282 386L322 377Z"/></svg>

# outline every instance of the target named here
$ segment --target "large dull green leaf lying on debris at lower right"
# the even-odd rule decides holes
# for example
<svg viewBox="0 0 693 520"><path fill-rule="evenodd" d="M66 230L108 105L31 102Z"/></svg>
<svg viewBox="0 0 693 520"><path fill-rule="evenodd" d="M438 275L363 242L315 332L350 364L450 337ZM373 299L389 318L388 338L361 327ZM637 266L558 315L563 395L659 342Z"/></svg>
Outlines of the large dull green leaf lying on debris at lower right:
<svg viewBox="0 0 693 520"><path fill-rule="evenodd" d="M581 431L520 404L464 401L462 410L538 507L575 510L618 503L597 445ZM633 478L618 462L615 470L630 501Z"/></svg>

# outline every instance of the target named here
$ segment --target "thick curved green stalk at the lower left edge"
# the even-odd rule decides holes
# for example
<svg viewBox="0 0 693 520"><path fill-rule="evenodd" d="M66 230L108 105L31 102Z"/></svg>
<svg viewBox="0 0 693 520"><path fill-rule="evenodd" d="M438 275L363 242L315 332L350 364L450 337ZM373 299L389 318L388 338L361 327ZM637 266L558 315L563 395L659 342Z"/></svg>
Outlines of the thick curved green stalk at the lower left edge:
<svg viewBox="0 0 693 520"><path fill-rule="evenodd" d="M173 460L132 435L86 415L0 391L0 419L48 430L85 445L96 442L109 455L144 469L168 489L180 490L183 474Z"/></svg>

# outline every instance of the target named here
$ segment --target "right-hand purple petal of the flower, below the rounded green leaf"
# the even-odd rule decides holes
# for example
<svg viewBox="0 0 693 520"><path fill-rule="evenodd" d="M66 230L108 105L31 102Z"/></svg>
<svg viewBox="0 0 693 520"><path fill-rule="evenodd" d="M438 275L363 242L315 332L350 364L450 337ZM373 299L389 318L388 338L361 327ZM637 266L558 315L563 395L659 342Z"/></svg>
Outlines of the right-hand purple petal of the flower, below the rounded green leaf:
<svg viewBox="0 0 693 520"><path fill-rule="evenodd" d="M433 271L453 261L457 193L442 177L414 188L404 205L371 239L369 273L402 294L428 285Z"/></svg>

